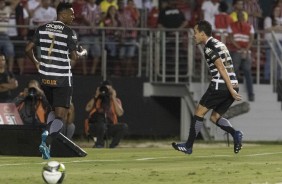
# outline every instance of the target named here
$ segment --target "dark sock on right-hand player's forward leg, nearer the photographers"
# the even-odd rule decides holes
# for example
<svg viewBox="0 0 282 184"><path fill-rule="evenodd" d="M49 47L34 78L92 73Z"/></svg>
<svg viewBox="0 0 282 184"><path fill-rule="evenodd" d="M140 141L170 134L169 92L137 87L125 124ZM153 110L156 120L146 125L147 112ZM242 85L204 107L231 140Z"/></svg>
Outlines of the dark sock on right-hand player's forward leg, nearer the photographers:
<svg viewBox="0 0 282 184"><path fill-rule="evenodd" d="M189 137L188 137L188 140L186 142L186 146L188 148L193 147L194 141L195 141L198 133L201 131L201 128L203 126L203 120L204 120L204 118L201 118L201 117L196 116L196 115L193 117L193 120L192 120L191 125L190 125Z"/></svg>

